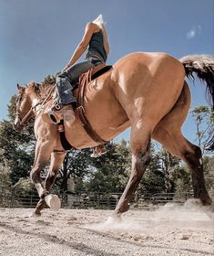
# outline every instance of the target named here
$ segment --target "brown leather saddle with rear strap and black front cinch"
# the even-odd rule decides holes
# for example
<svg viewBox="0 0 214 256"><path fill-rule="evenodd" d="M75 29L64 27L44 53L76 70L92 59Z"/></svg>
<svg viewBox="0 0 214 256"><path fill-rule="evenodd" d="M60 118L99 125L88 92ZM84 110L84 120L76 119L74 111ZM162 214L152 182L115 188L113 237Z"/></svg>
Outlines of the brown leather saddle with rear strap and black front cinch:
<svg viewBox="0 0 214 256"><path fill-rule="evenodd" d="M105 63L101 63L97 65L95 68L89 69L86 73L83 73L78 82L76 83L76 87L78 87L78 94L77 94L77 102L76 102L76 112L79 115L79 119L81 123L83 124L83 127L87 134L94 140L97 144L107 144L108 142L103 140L97 132L93 129L89 121L86 117L86 112L84 109L84 97L85 97L85 91L88 86L88 83L92 80L97 79L100 75L107 72L109 69L111 69L111 65L106 65ZM66 150L70 150L72 146L66 141L66 135L64 132L64 129L62 129L63 121L59 123L59 132L60 132L60 138L61 143L63 147ZM60 131L61 130L61 131Z"/></svg>

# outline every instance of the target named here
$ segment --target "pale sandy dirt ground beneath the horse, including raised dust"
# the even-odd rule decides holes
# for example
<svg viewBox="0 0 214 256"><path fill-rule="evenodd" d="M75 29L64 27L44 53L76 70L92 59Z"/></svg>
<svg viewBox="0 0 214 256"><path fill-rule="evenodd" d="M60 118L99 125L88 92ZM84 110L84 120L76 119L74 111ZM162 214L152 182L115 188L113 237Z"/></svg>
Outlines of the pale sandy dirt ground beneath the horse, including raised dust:
<svg viewBox="0 0 214 256"><path fill-rule="evenodd" d="M110 210L0 208L0 255L214 255L213 214L192 201L155 211L129 210L110 222Z"/></svg>

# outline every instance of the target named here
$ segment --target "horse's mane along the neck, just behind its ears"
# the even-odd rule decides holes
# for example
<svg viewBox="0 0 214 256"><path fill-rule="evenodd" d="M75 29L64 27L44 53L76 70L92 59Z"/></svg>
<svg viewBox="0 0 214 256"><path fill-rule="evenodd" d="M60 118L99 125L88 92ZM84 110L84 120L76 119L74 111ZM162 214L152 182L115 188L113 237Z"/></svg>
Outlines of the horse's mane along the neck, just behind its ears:
<svg viewBox="0 0 214 256"><path fill-rule="evenodd" d="M37 83L37 82L31 82L29 83L26 88L30 88L33 91L36 92L36 95L40 99L46 99L46 96L50 93L50 91L55 91L54 90L54 83L48 83L48 82L42 82L42 83Z"/></svg>

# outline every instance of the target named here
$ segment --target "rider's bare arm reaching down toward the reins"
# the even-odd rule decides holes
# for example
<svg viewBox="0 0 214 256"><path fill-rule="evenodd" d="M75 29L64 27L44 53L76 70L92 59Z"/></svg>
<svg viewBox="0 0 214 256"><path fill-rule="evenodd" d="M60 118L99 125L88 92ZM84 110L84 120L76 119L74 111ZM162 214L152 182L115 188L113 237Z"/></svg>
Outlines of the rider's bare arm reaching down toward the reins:
<svg viewBox="0 0 214 256"><path fill-rule="evenodd" d="M94 23L87 23L85 34L84 34L81 42L78 44L74 54L72 55L71 59L69 60L68 64L66 65L66 68L64 70L66 70L70 66L74 65L76 60L79 59L83 55L83 53L87 49L87 45L89 44L92 35L95 32L98 32L98 30L99 30L99 27L97 27L97 25L95 25Z"/></svg>

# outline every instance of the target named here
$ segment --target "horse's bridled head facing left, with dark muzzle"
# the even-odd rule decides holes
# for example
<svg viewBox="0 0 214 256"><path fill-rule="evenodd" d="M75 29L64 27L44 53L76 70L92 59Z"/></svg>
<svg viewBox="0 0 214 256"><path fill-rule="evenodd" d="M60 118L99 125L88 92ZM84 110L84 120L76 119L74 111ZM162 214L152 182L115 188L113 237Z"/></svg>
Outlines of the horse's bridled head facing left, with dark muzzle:
<svg viewBox="0 0 214 256"><path fill-rule="evenodd" d="M17 131L21 131L25 123L34 116L34 112L32 110L32 100L28 87L25 88L17 84L17 89L18 95L16 99L14 128Z"/></svg>

